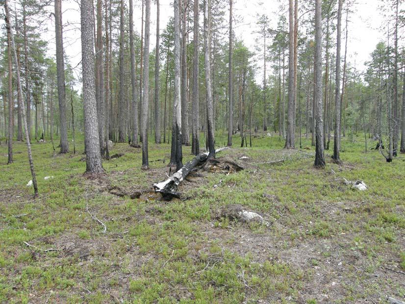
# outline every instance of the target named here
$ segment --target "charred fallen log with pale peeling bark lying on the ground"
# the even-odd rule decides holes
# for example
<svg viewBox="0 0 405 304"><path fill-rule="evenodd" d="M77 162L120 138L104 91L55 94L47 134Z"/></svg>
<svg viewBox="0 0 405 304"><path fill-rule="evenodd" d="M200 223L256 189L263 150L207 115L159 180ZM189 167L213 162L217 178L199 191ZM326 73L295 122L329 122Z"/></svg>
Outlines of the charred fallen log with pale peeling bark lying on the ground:
<svg viewBox="0 0 405 304"><path fill-rule="evenodd" d="M228 149L228 147L217 149L215 153L221 152L226 149ZM165 181L154 183L153 184L154 191L156 193L159 192L162 195L163 199L167 201L170 201L173 198L180 198L180 193L177 192L178 185L185 179L185 177L187 177L187 175L195 167L202 165L204 162L206 162L207 157L208 152L197 155Z"/></svg>

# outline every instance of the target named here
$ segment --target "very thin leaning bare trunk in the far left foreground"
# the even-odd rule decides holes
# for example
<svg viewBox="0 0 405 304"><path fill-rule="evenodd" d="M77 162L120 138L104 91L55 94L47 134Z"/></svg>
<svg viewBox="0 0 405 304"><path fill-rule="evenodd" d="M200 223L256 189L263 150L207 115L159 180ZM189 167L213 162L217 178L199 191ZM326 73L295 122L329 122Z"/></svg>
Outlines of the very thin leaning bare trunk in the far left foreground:
<svg viewBox="0 0 405 304"><path fill-rule="evenodd" d="M20 96L18 98L18 102L20 103L20 111L21 111L21 117L23 120L23 125L24 125L24 131L25 131L25 137L26 137L26 145L27 145L27 151L28 151L28 161L29 161L29 167L31 169L31 176L32 176L32 185L34 186L34 194L35 196L38 196L38 186L37 186L37 179L35 175L35 170L34 170L34 162L32 160L32 153L31 153L31 143L29 141L29 134L28 134L28 127L26 123L26 117L25 117L25 108L23 105L23 90L21 88L21 78L20 78L20 66L18 62L18 56L17 56L17 51L16 51L16 45L14 42L14 34L13 34L13 29L11 25L11 19L10 19L10 11L8 8L8 0L4 0L4 8L5 8L5 13L6 13L6 25L8 34L11 39L11 46L13 49L14 53L14 60L15 60L15 65L16 65L16 74L17 74L17 87L18 87L18 92L17 94Z"/></svg>

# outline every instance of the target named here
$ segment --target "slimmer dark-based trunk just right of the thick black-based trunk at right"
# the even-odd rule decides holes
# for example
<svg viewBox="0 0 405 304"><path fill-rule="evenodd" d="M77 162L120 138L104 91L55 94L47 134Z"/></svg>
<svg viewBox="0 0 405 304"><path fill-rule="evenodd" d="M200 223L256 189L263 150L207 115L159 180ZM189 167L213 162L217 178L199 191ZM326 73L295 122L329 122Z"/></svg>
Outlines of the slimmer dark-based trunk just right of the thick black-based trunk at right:
<svg viewBox="0 0 405 304"><path fill-rule="evenodd" d="M343 0L339 0L337 10L337 39L336 39L336 80L335 80L335 131L333 138L333 160L340 162L340 38L342 26L342 5Z"/></svg>

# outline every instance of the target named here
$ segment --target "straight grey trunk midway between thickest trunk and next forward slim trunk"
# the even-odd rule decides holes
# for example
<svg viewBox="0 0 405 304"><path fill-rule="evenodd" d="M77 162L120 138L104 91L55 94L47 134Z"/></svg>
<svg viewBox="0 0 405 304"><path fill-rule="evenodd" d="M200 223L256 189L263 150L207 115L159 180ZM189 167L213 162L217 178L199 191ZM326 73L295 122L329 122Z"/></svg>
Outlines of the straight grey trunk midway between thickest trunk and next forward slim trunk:
<svg viewBox="0 0 405 304"><path fill-rule="evenodd" d="M125 142L125 99L124 99L124 0L120 1L120 75L119 75L119 93L118 93L118 142Z"/></svg>

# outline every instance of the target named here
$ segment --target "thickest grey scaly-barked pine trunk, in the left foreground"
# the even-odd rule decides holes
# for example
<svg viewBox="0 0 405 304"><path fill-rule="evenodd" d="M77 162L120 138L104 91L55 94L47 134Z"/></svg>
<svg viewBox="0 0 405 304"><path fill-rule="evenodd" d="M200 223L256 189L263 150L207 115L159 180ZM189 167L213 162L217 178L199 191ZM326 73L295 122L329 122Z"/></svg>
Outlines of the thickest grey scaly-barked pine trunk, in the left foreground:
<svg viewBox="0 0 405 304"><path fill-rule="evenodd" d="M81 57L86 173L97 174L103 173L104 170L101 165L100 137L97 118L92 11L93 1L81 0Z"/></svg>

